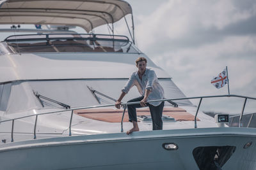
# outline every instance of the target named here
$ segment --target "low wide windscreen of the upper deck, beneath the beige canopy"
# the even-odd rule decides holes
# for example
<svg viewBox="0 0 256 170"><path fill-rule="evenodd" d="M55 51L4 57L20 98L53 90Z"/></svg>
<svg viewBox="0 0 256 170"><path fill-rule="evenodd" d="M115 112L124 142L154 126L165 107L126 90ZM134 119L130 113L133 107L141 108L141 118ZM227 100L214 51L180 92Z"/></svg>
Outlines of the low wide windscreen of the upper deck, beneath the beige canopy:
<svg viewBox="0 0 256 170"><path fill-rule="evenodd" d="M104 34L26 34L4 40L13 53L118 52L140 53L126 36Z"/></svg>

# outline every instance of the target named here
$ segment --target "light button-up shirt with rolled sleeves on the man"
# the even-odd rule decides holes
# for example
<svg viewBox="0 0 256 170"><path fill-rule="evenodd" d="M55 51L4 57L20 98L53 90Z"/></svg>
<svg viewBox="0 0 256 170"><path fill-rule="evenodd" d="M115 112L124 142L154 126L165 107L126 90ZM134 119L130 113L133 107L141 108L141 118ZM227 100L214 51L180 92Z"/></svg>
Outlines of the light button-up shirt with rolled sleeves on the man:
<svg viewBox="0 0 256 170"><path fill-rule="evenodd" d="M141 96L145 95L146 89L150 90L150 94L147 99L148 101L164 98L164 89L159 84L156 73L152 69L146 68L146 71L142 76L142 80L139 78L138 71L134 71L131 74L129 80L127 81L125 87L122 89L122 92L125 92L127 94L134 85L136 85L136 87L138 88ZM158 106L161 103L161 101L150 102L150 104L152 104L153 106Z"/></svg>

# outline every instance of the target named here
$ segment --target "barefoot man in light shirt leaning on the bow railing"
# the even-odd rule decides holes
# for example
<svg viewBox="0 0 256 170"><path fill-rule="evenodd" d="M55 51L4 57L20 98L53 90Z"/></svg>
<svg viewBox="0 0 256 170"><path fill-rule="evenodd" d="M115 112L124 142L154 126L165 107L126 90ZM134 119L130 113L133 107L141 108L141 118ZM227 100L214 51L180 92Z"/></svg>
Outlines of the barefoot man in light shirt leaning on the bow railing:
<svg viewBox="0 0 256 170"><path fill-rule="evenodd" d="M130 104L127 106L128 108L128 115L129 115L129 122L132 122L132 129L127 131L127 134L131 134L134 131L140 131L137 123L137 115L136 115L136 108L141 108L148 106L150 110L150 115L152 117L153 123L153 130L162 130L163 129L163 121L162 121L162 114L164 108L164 102L153 102L153 103L146 103L147 100L157 100L164 98L164 90L163 87L159 84L157 80L157 76L155 71L152 69L147 69L147 59L144 57L139 57L136 60L136 66L138 67L138 71L135 71L131 74L127 84L122 89L122 94L120 95L119 99L116 101L115 107L120 109L120 104L122 99L124 98L125 94L129 92L131 87L136 85L138 91L140 92L141 96L135 99L131 99L128 101L136 102L140 101L140 104Z"/></svg>

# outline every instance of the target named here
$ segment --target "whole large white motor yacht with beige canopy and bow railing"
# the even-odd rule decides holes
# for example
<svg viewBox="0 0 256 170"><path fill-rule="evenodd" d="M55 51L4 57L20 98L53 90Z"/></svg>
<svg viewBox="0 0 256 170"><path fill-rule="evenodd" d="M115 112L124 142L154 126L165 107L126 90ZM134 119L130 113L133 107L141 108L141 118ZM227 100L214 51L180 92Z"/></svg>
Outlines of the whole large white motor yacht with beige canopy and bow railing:
<svg viewBox="0 0 256 170"><path fill-rule="evenodd" d="M0 32L14 32L0 42L0 169L256 169L256 117L246 124L243 119L246 101L255 98L186 97L134 44L129 3L0 3L0 24L13 25ZM132 30L125 18L129 15ZM129 38L114 34L114 23L121 19ZM109 34L97 34L100 25ZM152 131L148 108L140 108L140 132L128 136L126 108L131 103L125 100L138 97L138 91L130 90L121 110L115 101L138 57L147 58L164 88L164 127ZM237 127L228 126L235 124L235 118L228 124L229 115L214 120L200 111L204 99L216 97L244 99Z"/></svg>

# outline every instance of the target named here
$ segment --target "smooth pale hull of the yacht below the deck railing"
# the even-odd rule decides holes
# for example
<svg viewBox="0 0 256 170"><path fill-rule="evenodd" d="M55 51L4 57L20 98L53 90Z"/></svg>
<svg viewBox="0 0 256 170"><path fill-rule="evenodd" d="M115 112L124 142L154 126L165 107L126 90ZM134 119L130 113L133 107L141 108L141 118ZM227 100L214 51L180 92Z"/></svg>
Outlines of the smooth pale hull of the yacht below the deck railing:
<svg viewBox="0 0 256 170"><path fill-rule="evenodd" d="M248 148L244 145L252 142ZM177 150L165 150L175 143ZM35 139L1 145L1 169L199 169L199 146L236 146L222 169L256 169L256 129L205 128Z"/></svg>

